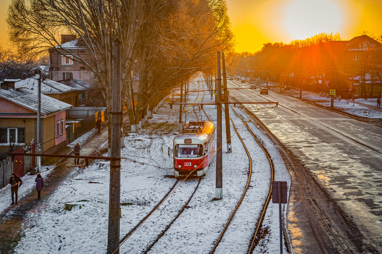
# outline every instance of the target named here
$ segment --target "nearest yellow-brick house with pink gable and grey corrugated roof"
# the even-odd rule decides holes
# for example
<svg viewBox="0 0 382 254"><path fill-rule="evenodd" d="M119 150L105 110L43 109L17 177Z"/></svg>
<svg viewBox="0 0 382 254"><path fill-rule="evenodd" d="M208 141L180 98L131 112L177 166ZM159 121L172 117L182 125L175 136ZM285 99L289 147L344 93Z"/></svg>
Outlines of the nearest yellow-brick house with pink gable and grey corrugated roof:
<svg viewBox="0 0 382 254"><path fill-rule="evenodd" d="M41 94L41 149L55 153L66 147L65 110L72 105ZM0 153L12 144L28 146L37 138L37 92L15 88L13 82L1 83L0 89ZM48 159L48 158L47 158ZM41 158L44 163L44 158Z"/></svg>

